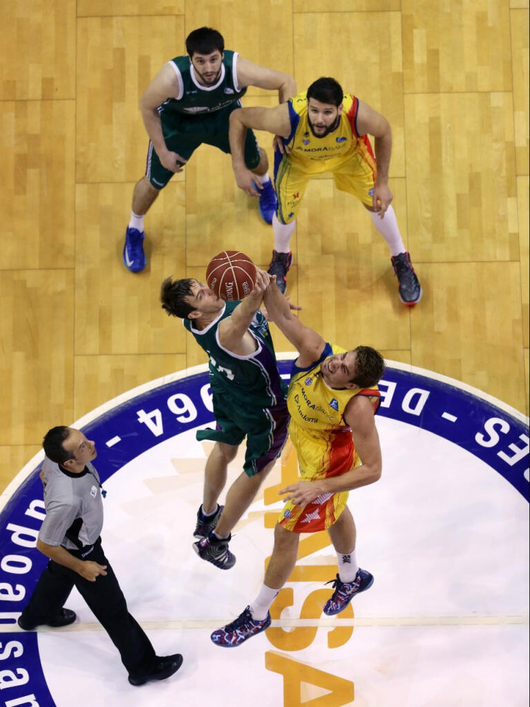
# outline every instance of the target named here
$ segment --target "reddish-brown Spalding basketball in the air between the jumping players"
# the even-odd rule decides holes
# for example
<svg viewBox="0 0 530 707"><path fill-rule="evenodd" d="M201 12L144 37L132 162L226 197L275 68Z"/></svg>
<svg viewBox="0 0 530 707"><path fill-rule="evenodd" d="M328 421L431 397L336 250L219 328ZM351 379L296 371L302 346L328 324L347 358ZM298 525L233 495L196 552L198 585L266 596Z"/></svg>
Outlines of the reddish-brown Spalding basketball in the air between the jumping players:
<svg viewBox="0 0 530 707"><path fill-rule="evenodd" d="M254 263L239 250L223 250L211 259L206 268L206 284L227 302L242 300L249 295L255 280Z"/></svg>

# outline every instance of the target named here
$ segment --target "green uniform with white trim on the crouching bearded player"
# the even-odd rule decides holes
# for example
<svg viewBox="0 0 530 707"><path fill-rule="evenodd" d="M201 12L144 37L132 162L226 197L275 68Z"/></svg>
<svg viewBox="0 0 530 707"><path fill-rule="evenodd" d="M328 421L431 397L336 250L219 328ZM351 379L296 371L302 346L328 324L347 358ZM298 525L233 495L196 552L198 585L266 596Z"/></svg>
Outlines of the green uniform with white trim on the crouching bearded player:
<svg viewBox="0 0 530 707"><path fill-rule="evenodd" d="M179 94L167 98L158 107L167 149L186 160L201 144L218 147L230 153L228 127L230 113L241 107L240 98L247 88L237 82L237 52L225 50L218 81L202 86L188 56L175 57L168 64L179 81ZM259 164L259 149L252 130L247 131L245 163L249 169ZM155 189L162 189L173 173L160 164L153 143L149 142L146 177Z"/></svg>

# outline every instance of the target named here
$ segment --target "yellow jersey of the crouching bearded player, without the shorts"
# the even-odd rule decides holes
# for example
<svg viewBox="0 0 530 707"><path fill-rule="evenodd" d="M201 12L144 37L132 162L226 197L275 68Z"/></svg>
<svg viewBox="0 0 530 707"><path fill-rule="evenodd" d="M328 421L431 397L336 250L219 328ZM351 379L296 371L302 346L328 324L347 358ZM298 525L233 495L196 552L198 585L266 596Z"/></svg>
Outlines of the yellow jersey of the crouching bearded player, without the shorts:
<svg viewBox="0 0 530 707"><path fill-rule="evenodd" d="M337 127L324 137L315 137L307 121L306 91L288 101L291 134L285 144L291 148L290 159L308 174L333 170L342 164L363 141L356 128L359 101L346 93Z"/></svg>

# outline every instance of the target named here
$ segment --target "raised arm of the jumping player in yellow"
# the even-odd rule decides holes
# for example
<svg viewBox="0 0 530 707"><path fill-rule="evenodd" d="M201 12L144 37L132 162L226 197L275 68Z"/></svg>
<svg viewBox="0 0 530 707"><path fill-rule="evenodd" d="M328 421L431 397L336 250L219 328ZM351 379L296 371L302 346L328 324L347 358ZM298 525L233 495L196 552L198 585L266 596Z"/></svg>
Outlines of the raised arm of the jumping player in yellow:
<svg viewBox="0 0 530 707"><path fill-rule="evenodd" d="M305 368L318 361L326 342L314 329L306 327L293 315L288 299L276 285L276 276L271 277L271 283L266 288L264 305L271 320L300 352L297 366Z"/></svg>

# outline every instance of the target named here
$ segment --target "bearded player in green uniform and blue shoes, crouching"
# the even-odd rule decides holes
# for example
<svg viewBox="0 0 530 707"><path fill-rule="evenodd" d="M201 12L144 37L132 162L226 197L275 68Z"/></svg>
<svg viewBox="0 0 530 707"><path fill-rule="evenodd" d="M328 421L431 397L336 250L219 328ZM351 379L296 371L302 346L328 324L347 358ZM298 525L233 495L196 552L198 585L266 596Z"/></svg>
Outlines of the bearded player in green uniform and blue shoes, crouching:
<svg viewBox="0 0 530 707"><path fill-rule="evenodd" d="M131 219L125 234L123 260L131 272L146 267L143 217L171 177L182 172L201 144L230 153L228 119L241 105L247 86L278 91L283 103L296 93L294 79L242 59L225 50L217 30L201 27L186 40L188 56L164 64L140 100L143 124L149 136L146 175L134 187ZM242 160L261 187L259 211L271 223L276 194L267 173L266 153L252 133L243 140Z"/></svg>

